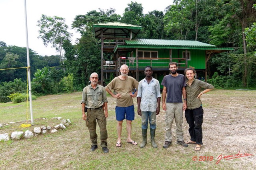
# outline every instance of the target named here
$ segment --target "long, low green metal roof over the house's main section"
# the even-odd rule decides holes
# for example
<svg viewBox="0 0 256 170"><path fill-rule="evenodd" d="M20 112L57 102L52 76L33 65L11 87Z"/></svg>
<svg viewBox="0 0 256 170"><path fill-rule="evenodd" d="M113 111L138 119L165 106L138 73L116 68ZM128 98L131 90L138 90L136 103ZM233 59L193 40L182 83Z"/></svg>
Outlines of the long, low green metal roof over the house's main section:
<svg viewBox="0 0 256 170"><path fill-rule="evenodd" d="M132 39L125 41L127 45L117 45L118 48L150 48L150 49L198 49L232 51L232 47L216 47L215 45L188 40L162 40L162 39Z"/></svg>

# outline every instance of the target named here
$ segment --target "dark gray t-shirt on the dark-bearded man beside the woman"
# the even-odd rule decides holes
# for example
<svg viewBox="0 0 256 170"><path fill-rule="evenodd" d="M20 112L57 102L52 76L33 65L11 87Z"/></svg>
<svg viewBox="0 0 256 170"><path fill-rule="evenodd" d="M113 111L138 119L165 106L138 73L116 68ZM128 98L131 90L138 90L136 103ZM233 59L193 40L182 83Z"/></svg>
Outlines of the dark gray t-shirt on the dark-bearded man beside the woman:
<svg viewBox="0 0 256 170"><path fill-rule="evenodd" d="M186 87L186 80L183 74L173 77L171 74L164 76L161 85L166 87L167 103L182 103L182 88Z"/></svg>

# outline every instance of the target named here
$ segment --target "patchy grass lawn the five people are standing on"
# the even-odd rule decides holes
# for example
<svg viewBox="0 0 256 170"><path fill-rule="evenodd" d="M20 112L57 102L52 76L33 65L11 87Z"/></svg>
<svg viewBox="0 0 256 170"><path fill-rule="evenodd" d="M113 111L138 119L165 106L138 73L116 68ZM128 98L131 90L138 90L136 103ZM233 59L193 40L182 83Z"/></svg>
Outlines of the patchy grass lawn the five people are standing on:
<svg viewBox="0 0 256 170"><path fill-rule="evenodd" d="M239 135L235 127L244 128L244 131L252 133L241 134L250 135L256 139L255 135L255 101L256 91L236 91L236 90L212 90L202 97L204 107L203 123L203 142L204 145L200 152L194 151L194 145L184 148L176 144L175 121L172 125L172 145L168 149L163 149L165 138L165 112L162 110L157 115L156 143L158 148L154 149L150 144L150 134L148 130L148 144L145 148L140 149L142 141L141 119L137 114L136 98L134 98L135 120L132 122L132 139L138 142L137 146L126 143L126 122L124 120L122 129L122 147L116 147L116 118L115 118L115 100L108 96L107 131L108 131L108 148L110 152L104 154L100 148L100 133L98 134L98 149L90 152L90 137L85 121L82 119L81 98L82 92L72 94L60 94L42 96L33 100L34 125L28 128L18 128L22 123L26 123L26 102L19 104L0 103L0 123L16 122L0 128L0 134L10 133L12 131L26 131L34 127L43 125L54 126L60 123L53 117L62 117L70 119L72 125L65 130L57 133L46 133L30 139L19 141L2 141L0 142L0 169L43 169L43 170L60 170L60 169L125 169L125 170L146 170L146 169L255 169L255 147L250 144L234 145L236 139L232 137ZM235 100L235 101L234 101ZM230 102L234 108L242 107L241 100L248 100L242 108L244 117L239 124L238 114L230 113ZM213 103L214 102L214 103ZM237 105L236 105L237 104ZM225 108L224 108L225 107ZM240 111L238 111L240 114ZM216 118L216 117L217 118ZM184 140L190 139L188 134L188 125L184 118ZM234 118L234 119L233 119ZM28 106L28 119L30 119L30 110ZM248 119L248 122L244 122ZM218 122L218 123L216 123ZM244 125L244 127L243 127ZM97 125L98 126L98 125ZM14 127L14 128L12 128ZM234 130L231 129L233 127ZM240 129L241 130L241 129ZM254 134L254 135L253 135ZM228 138L226 136L228 135ZM250 137L249 137L250 138ZM229 143L230 142L230 143ZM245 140L246 142L246 140ZM244 142L243 142L244 143ZM226 144L226 145L225 145ZM241 145L240 145L241 144ZM253 148L254 147L254 148ZM230 155L240 153L253 154L243 158L234 158L230 160L218 161L218 156L222 154ZM195 157L196 156L196 157ZM208 157L207 157L208 156ZM210 157L212 156L212 157ZM197 160L192 160L197 158ZM199 160L201 158L201 160ZM212 158L212 160L210 160Z"/></svg>

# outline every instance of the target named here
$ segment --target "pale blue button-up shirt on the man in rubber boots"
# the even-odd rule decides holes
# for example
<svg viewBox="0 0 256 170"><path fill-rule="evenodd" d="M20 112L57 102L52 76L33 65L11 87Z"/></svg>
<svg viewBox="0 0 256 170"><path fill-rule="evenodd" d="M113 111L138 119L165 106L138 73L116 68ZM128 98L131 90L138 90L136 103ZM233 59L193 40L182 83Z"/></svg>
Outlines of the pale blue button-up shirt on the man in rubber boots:
<svg viewBox="0 0 256 170"><path fill-rule="evenodd" d="M148 84L145 78L141 80L137 97L141 98L140 109L142 111L156 111L157 98L161 97L159 81L152 78Z"/></svg>

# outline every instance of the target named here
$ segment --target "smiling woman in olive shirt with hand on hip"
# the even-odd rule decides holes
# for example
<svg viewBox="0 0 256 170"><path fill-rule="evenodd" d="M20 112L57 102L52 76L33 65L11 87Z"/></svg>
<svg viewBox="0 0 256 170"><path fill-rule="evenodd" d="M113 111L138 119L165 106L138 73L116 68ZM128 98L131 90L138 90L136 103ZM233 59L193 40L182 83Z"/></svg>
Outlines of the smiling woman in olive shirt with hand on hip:
<svg viewBox="0 0 256 170"><path fill-rule="evenodd" d="M187 77L186 81L186 97L187 97L187 109L185 110L185 117L189 125L188 132L190 134L190 141L187 144L196 144L196 151L201 150L203 145L203 133L202 133L202 123L204 110L202 108L202 102L200 97L202 94L209 92L214 87L212 84L208 84L201 80L194 78L196 70L193 67L186 68L184 71ZM205 90L201 92L201 89Z"/></svg>

